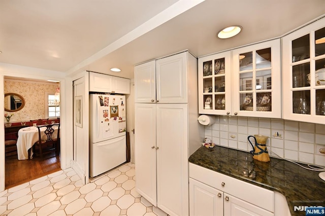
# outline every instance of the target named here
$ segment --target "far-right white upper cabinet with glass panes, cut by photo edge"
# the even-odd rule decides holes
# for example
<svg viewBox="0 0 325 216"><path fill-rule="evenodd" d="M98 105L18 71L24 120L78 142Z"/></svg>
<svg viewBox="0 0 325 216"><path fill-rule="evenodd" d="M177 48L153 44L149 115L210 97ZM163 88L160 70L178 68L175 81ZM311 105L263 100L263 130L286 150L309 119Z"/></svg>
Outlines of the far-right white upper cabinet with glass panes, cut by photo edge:
<svg viewBox="0 0 325 216"><path fill-rule="evenodd" d="M325 18L282 38L283 118L325 122Z"/></svg>

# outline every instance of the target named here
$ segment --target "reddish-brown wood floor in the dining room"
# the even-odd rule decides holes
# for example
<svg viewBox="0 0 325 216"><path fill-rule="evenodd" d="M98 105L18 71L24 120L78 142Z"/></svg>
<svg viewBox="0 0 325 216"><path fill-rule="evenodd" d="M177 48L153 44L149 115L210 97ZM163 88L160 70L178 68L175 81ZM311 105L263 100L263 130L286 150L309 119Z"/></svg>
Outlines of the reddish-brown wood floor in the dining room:
<svg viewBox="0 0 325 216"><path fill-rule="evenodd" d="M55 156L55 152L43 160L40 157L18 160L17 155L13 155L6 157L5 169L5 189L8 189L61 170L60 157Z"/></svg>

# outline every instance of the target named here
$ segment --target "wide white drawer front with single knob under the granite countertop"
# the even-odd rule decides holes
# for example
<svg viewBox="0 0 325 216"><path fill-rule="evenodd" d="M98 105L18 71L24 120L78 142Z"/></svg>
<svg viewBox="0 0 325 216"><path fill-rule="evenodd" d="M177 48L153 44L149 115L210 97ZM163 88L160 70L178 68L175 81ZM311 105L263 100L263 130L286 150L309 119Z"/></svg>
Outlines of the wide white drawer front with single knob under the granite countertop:
<svg viewBox="0 0 325 216"><path fill-rule="evenodd" d="M274 192L189 163L189 177L274 212ZM223 184L224 183L224 184ZM222 186L223 185L223 186Z"/></svg>

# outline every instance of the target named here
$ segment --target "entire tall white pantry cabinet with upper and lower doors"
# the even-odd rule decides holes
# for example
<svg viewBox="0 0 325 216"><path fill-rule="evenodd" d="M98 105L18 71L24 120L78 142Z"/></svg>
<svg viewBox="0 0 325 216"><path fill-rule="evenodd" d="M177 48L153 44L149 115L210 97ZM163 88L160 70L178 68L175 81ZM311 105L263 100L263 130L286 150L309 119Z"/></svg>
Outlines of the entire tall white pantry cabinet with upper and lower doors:
<svg viewBox="0 0 325 216"><path fill-rule="evenodd" d="M143 91L151 88L145 80L153 77L149 75L152 62L135 68L136 190L170 215L188 215L188 157L204 139L204 128L197 120L197 59L184 52L155 61L159 101L149 97L148 89ZM175 76L173 81L167 79L170 76ZM171 88L178 92L168 90L170 84L177 85Z"/></svg>

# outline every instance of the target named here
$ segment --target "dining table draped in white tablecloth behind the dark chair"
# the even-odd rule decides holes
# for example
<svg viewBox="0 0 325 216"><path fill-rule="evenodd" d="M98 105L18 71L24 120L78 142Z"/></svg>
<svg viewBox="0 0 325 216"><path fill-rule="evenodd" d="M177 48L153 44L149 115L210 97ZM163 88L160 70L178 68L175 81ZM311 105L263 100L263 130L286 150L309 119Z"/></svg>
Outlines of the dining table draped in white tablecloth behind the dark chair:
<svg viewBox="0 0 325 216"><path fill-rule="evenodd" d="M41 125L39 125L41 126ZM54 132L52 134L52 137L56 138L58 126L54 125L52 127L54 129ZM46 134L44 131L46 130L46 127L41 127L41 139L46 139ZM43 132L43 133L42 133ZM18 139L17 139L17 155L18 160L26 160L28 159L28 150L30 149L30 158L32 158L33 152L31 147L34 146L35 142L39 140L39 131L37 126L31 126L31 127L25 127L21 128L18 131Z"/></svg>

